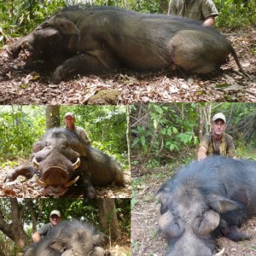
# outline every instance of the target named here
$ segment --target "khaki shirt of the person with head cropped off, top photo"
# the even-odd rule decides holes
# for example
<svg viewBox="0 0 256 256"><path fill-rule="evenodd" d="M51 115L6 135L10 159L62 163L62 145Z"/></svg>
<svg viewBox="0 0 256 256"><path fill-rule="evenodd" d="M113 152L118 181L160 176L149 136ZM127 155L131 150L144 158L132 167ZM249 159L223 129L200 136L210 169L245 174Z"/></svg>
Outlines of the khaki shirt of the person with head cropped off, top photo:
<svg viewBox="0 0 256 256"><path fill-rule="evenodd" d="M208 16L218 16L212 0L170 0L169 15L179 15L191 20L206 20Z"/></svg>

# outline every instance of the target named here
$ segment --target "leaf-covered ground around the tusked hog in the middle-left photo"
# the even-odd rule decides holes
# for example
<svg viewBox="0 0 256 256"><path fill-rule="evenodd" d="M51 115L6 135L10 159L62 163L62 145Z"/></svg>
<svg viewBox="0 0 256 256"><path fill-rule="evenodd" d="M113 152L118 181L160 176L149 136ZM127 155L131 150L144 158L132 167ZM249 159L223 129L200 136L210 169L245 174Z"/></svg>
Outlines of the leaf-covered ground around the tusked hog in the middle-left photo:
<svg viewBox="0 0 256 256"><path fill-rule="evenodd" d="M18 166L25 166L30 164L28 160L19 160ZM0 170L0 197L19 197L19 198L38 198L49 197L43 187L38 185L33 178L26 180L25 177L18 177L14 182L3 183L7 172L15 169L17 166L10 167L7 163L5 167ZM94 187L96 195L100 198L131 198L131 173L124 171L125 187L115 185L108 185L104 187ZM65 197L83 197L83 191L78 186L73 185L68 190Z"/></svg>

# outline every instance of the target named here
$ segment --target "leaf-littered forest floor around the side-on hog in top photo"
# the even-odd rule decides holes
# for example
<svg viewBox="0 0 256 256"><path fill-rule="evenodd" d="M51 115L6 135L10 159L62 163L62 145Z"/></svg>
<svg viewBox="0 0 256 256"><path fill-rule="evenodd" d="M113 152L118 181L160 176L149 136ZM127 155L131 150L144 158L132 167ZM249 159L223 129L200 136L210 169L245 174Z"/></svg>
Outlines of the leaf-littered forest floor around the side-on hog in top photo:
<svg viewBox="0 0 256 256"><path fill-rule="evenodd" d="M222 29L252 80L238 72L234 58L217 75L188 75L171 67L159 73L123 70L77 76L51 84L51 73L24 68L24 54L10 61L0 49L0 104L129 104L132 102L256 102L256 28ZM10 39L9 43L15 39ZM206 53L207 54L207 53Z"/></svg>

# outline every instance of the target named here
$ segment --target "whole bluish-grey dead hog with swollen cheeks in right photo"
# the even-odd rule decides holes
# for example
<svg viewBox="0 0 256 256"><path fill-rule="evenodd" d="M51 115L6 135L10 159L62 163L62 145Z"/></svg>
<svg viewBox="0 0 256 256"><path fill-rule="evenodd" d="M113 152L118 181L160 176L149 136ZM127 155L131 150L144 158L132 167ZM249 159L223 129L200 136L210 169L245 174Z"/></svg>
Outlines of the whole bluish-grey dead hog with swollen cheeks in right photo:
<svg viewBox="0 0 256 256"><path fill-rule="evenodd" d="M256 162L223 156L194 161L164 183L158 196L166 255L212 256L214 237L250 237L239 228L256 215Z"/></svg>

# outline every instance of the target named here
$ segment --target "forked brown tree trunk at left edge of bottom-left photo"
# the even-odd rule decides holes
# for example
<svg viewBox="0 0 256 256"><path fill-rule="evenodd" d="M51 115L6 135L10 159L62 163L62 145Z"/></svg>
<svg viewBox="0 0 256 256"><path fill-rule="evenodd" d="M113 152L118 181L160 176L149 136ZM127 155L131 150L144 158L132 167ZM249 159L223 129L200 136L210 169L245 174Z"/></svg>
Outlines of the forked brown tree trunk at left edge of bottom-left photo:
<svg viewBox="0 0 256 256"><path fill-rule="evenodd" d="M8 236L11 240L15 241L15 243L20 248L24 248L28 243L28 237L23 229L22 219L20 217L19 204L16 198L10 198L10 208L11 208L11 219L12 221L5 221L5 217L3 216L3 209L6 206L7 200L2 200L0 202L0 230L4 235ZM8 210L4 210L4 212L9 212Z"/></svg>

